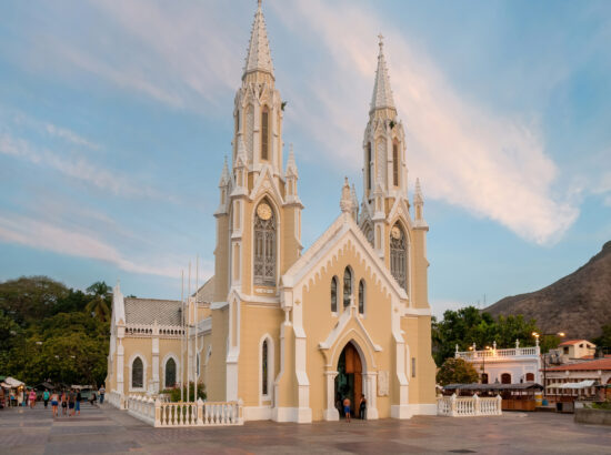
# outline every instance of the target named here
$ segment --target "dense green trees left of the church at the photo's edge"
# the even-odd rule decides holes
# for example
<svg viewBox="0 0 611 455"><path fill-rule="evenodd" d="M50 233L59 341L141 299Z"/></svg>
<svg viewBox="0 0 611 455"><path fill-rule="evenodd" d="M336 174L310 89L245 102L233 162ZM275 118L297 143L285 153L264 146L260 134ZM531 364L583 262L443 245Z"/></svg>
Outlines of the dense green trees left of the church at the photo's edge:
<svg viewBox="0 0 611 455"><path fill-rule="evenodd" d="M111 297L100 282L88 293L46 276L0 283L0 372L30 385L101 384Z"/></svg>

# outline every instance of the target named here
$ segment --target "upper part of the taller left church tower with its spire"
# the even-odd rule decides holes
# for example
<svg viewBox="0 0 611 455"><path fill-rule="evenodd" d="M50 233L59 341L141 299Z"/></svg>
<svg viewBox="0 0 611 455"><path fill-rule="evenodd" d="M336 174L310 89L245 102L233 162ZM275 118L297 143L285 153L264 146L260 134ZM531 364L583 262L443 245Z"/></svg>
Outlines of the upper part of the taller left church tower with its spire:
<svg viewBox="0 0 611 455"><path fill-rule="evenodd" d="M282 117L261 1L233 105L231 168L221 173L214 299L231 290L274 296L301 251L299 173L292 146L283 170Z"/></svg>

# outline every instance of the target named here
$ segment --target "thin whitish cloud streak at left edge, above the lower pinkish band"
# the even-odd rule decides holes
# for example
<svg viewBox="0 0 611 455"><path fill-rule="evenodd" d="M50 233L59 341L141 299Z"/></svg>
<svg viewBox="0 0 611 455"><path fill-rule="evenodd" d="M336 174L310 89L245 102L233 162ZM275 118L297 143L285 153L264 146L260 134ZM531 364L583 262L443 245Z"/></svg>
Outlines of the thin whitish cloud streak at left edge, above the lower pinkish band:
<svg viewBox="0 0 611 455"><path fill-rule="evenodd" d="M100 190L110 191L116 195L171 200L170 196L152 188L133 183L131 179L119 172L93 164L80 155L62 155L48 149L39 149L31 142L14 138L7 132L0 132L0 153L23 159L32 164L48 166L69 178L92 184Z"/></svg>

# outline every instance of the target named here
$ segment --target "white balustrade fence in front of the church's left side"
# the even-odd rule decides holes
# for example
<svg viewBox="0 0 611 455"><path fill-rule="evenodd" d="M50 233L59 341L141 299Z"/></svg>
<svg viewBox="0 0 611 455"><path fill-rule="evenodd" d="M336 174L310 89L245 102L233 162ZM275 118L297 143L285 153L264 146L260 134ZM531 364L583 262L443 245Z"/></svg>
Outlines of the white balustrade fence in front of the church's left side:
<svg viewBox="0 0 611 455"><path fill-rule="evenodd" d="M112 396L109 403L128 410L136 418L154 427L192 427L243 425L241 402L163 403L142 395L129 395L124 400ZM124 403L124 407L118 404Z"/></svg>

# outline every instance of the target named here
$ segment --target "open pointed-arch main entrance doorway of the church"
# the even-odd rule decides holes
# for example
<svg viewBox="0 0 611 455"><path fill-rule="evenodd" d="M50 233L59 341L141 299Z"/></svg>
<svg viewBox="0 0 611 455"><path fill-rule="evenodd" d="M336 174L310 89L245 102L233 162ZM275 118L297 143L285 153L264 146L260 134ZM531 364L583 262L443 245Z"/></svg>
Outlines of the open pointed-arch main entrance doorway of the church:
<svg viewBox="0 0 611 455"><path fill-rule="evenodd" d="M352 415L359 417L359 403L363 395L362 363L359 352L352 343L348 343L341 352L338 361L338 375L335 376L335 407L343 417L344 398L350 400Z"/></svg>

